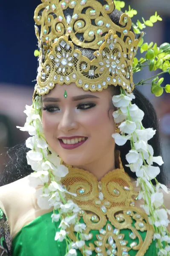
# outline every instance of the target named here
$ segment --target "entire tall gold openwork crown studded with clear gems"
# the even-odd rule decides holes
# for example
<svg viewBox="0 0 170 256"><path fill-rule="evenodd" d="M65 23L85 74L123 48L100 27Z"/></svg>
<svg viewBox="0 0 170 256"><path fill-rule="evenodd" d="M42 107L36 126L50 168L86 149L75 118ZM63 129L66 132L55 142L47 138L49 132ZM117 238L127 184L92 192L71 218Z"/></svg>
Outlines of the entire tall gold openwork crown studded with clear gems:
<svg viewBox="0 0 170 256"><path fill-rule="evenodd" d="M112 0L42 2L34 17L40 49L35 93L44 95L55 84L71 82L91 91L110 84L133 90L132 64L140 38L135 39L130 31L132 22L127 14L121 15L118 26L108 15L115 9ZM84 57L74 45L95 49L94 59Z"/></svg>

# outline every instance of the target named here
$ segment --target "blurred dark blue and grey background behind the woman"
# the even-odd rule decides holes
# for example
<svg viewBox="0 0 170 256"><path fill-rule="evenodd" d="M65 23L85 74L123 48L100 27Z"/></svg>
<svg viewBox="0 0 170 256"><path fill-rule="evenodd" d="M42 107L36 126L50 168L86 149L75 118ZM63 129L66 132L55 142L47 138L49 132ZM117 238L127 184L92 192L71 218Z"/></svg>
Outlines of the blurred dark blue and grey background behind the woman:
<svg viewBox="0 0 170 256"><path fill-rule="evenodd" d="M147 27L144 41L153 41L158 46L163 42L170 43L170 0L125 0L128 5L138 11L133 22L147 20L155 12L163 21ZM5 152L8 147L25 140L27 133L21 132L16 125L23 126L25 105L32 104L35 86L37 58L37 40L34 32L34 10L40 0L8 0L0 6L0 172L6 162ZM142 21L142 20L141 20ZM135 82L150 76L147 70L134 76ZM170 84L170 76L164 76L164 84ZM159 120L164 167L170 177L170 94L164 93L155 97L150 86L139 89L153 103Z"/></svg>

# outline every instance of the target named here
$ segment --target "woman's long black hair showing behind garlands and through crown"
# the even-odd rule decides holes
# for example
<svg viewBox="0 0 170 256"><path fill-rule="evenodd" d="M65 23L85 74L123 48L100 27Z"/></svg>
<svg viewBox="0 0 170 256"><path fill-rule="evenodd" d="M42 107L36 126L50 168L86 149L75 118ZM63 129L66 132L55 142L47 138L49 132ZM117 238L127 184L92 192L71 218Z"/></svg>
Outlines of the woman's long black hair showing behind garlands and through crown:
<svg viewBox="0 0 170 256"><path fill-rule="evenodd" d="M112 14L109 15L109 17L112 19L114 23L119 25L119 19L122 12L118 10L114 10ZM131 29L133 31L133 28ZM94 58L94 51L91 49L83 49L80 47L75 48L81 50L82 55L86 56L90 60ZM115 94L120 93L120 87L115 87ZM142 121L145 128L153 128L156 130L156 135L150 140L150 145L152 145L154 149L155 156L161 155L161 146L160 146L160 137L159 137L159 128L158 128L158 121L156 116L156 111L153 108L153 105L150 103L150 101L142 95L137 89L134 89L134 95L135 95L135 104L144 111L144 119ZM134 103L133 102L133 103ZM127 143L124 146L117 146L117 150L120 151L121 154L121 160L122 164L124 166L125 172L127 172L128 175L131 177L136 178L135 173L130 171L130 168L126 167L127 164L126 160L126 154L130 150L130 142L127 141ZM26 152L28 152L29 149L26 148L25 142L20 143L13 148L9 149L7 154L9 155L9 163L6 165L6 168L3 172L3 175L1 175L0 179L0 186L6 185L8 183L14 182L15 180L18 180L20 178L23 178L27 175L29 175L32 171L31 166L27 164L26 160ZM161 172L157 176L158 182L167 184L167 178L164 172L164 169L162 166L160 166ZM154 181L153 181L154 183Z"/></svg>

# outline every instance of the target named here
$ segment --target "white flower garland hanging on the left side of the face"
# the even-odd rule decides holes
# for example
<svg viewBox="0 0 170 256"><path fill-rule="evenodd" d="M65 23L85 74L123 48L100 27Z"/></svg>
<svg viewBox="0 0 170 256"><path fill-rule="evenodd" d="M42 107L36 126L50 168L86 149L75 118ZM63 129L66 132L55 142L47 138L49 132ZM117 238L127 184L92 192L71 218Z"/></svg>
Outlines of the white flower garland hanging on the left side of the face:
<svg viewBox="0 0 170 256"><path fill-rule="evenodd" d="M66 193L76 196L68 192L61 184L61 177L68 174L68 168L61 165L61 159L53 151L46 142L43 134L41 121L42 102L41 97L36 96L32 106L26 105L26 123L24 127L19 127L21 131L28 131L29 137L26 140L26 147L31 150L26 154L27 162L34 171L31 177L31 184L35 187L43 185L37 189L37 204L41 209L50 209L53 207L52 222L60 220L60 232L56 232L55 240L66 240L66 256L77 256L76 249L82 248L83 255L92 255L91 250L84 248L85 240L89 240L90 236L84 233L85 224L78 221L78 212L81 210L77 204L71 200L66 200ZM77 232L77 241L75 243L66 232L67 227L74 224L75 232ZM79 240L80 238L80 240Z"/></svg>

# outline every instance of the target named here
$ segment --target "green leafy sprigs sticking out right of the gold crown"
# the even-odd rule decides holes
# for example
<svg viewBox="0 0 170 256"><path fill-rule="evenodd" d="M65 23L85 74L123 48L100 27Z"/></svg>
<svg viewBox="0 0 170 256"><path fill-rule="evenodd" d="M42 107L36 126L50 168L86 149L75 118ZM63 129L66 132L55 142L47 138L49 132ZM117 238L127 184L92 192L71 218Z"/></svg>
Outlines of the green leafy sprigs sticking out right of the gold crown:
<svg viewBox="0 0 170 256"><path fill-rule="evenodd" d="M124 1L114 0L114 3L115 8L118 10L121 10L125 6ZM130 6L128 11L126 10L124 12L127 13L131 18L134 15L137 15L137 11L131 9ZM142 17L142 22L140 20L137 20L136 23L132 23L134 32L135 34L141 34L146 26L153 27L154 23L161 20L162 18L157 14L157 12L155 12L155 15L152 15L148 20L144 20L144 18ZM144 67L148 67L151 72L158 69L161 71L158 75L152 76L149 79L142 79L138 82L138 84L150 84L149 81L153 79L151 80L151 92L153 94L155 94L157 97L161 96L164 90L167 93L170 93L170 84L167 84L165 87L161 87L164 79L159 78L159 76L164 73L170 73L170 44L164 43L161 44L160 47L158 47L157 44L153 44L153 42L150 42L150 44L148 44L147 42L144 42L144 38L141 38L138 43L138 47L140 47L141 53L144 53L145 56L140 58L140 60L138 60L138 58L136 57L134 58L133 73L141 71Z"/></svg>

